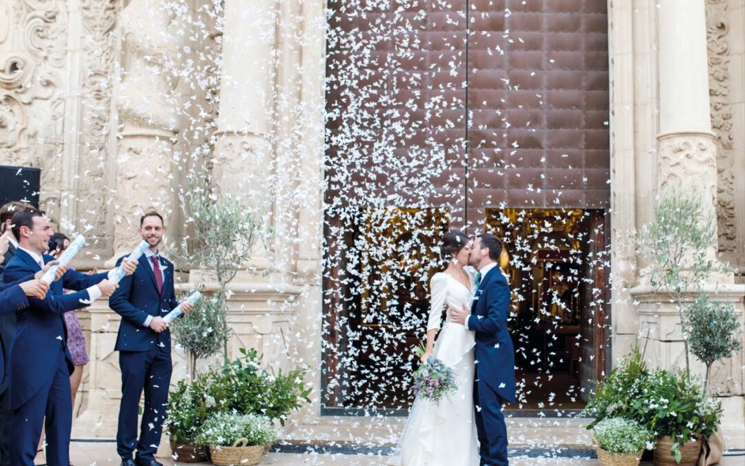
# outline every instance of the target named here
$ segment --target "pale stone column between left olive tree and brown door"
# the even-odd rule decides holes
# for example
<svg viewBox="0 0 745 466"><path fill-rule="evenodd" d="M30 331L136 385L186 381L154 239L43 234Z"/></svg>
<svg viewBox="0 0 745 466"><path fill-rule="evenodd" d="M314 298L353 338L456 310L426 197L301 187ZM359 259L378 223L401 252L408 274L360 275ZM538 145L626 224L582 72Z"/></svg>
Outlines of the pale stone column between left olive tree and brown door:
<svg viewBox="0 0 745 466"><path fill-rule="evenodd" d="M275 147L276 0L226 0L213 189L270 222ZM289 110L288 110L289 111ZM262 249L253 266L269 266Z"/></svg>

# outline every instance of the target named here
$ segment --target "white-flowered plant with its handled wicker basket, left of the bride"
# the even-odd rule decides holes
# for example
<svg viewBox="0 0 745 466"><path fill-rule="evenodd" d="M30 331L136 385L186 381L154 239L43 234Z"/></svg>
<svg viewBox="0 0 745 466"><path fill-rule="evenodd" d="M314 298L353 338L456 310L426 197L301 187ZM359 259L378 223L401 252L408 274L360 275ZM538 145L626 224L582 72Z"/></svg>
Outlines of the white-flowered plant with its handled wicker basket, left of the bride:
<svg viewBox="0 0 745 466"><path fill-rule="evenodd" d="M197 443L209 444L213 465L258 465L276 440L269 418L238 412L219 412L207 419Z"/></svg>

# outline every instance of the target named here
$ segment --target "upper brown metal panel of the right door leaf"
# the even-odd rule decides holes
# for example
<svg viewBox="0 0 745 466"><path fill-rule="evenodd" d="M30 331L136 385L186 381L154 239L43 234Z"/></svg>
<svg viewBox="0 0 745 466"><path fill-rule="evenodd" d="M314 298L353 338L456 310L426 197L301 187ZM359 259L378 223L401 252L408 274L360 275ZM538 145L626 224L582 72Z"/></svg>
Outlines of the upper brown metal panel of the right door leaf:
<svg viewBox="0 0 745 466"><path fill-rule="evenodd" d="M606 0L472 0L468 221L609 207Z"/></svg>

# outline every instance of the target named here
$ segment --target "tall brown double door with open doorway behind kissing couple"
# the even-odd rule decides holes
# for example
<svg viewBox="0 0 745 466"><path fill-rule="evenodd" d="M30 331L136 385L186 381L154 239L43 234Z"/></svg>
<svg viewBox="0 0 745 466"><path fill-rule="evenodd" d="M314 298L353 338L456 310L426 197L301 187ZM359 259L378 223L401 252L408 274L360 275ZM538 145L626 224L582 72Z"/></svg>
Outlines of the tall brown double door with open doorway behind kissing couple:
<svg viewBox="0 0 745 466"><path fill-rule="evenodd" d="M329 1L326 412L410 406L412 348L450 228L505 240L523 408L544 403L536 387L571 407L601 376L605 8Z"/></svg>

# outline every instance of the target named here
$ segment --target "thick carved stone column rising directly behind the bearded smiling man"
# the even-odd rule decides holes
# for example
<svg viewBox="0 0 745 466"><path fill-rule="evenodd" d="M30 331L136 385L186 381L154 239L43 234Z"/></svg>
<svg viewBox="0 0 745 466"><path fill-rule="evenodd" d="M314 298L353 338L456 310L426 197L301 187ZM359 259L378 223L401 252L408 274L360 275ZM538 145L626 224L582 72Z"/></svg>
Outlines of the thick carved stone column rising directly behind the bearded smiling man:
<svg viewBox="0 0 745 466"><path fill-rule="evenodd" d="M171 75L186 45L185 25L165 0L133 0L121 11L124 72L117 110L122 127L116 157L114 258L139 240L139 216L157 210L175 230L172 186L179 109Z"/></svg>

